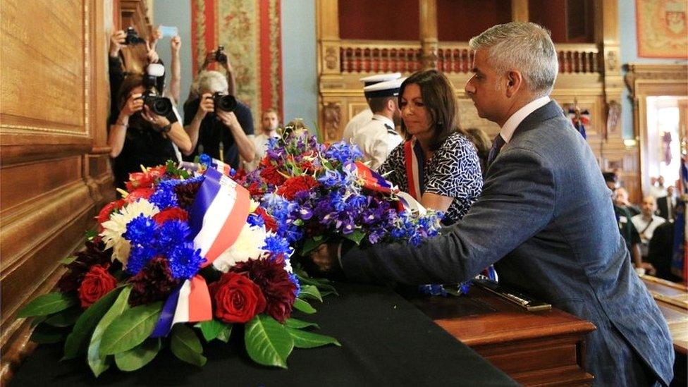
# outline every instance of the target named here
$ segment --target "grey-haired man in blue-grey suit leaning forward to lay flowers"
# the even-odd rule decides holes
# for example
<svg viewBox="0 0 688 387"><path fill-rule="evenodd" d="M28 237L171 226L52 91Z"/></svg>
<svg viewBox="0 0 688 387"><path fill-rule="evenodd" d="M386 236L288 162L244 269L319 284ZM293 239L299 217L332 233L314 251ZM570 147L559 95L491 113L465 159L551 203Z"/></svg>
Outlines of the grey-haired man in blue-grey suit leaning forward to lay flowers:
<svg viewBox="0 0 688 387"><path fill-rule="evenodd" d="M601 386L668 385L665 319L635 274L594 154L548 97L558 73L549 32L489 28L470 41L466 92L500 125L481 196L462 221L419 247L321 248L311 258L351 281L456 283L495 263L500 283L591 321L585 367Z"/></svg>

